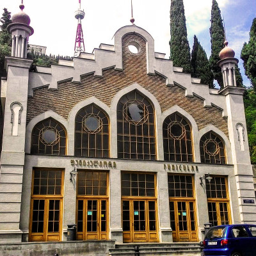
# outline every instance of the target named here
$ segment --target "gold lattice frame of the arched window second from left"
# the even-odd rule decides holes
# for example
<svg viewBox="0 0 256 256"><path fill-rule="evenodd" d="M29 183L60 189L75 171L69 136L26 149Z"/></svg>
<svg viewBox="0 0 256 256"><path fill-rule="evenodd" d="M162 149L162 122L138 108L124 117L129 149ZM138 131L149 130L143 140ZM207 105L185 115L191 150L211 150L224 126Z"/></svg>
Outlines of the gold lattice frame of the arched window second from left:
<svg viewBox="0 0 256 256"><path fill-rule="evenodd" d="M85 108L87 108L87 107L90 107L90 106L92 106L92 108L94 107L94 108L98 109L98 110L99 110L98 114L100 113L100 111L101 111L102 113L104 113L104 115L106 116L106 120L108 120L108 149L105 149L105 148L103 147L103 143L104 143L104 141L103 141L103 136L106 134L106 132L103 132L103 125L104 125L104 124L102 124L102 120L101 120L101 124L100 124L100 126L101 126L100 131L88 132L89 129L87 129L87 131L86 131L86 129L83 128L83 126L84 126L84 124L83 124L84 117L85 117L86 115L92 115L93 113L86 113L86 115L83 116L82 121L79 122L79 123L81 123L81 131L78 131L78 132L76 131L77 115L79 115L80 111L83 111L83 109L85 109ZM93 114L93 115L94 115L94 114ZM95 115L96 115L96 114L95 114ZM80 115L80 116L81 116L81 115ZM88 116L88 117L90 117L90 116ZM94 117L95 117L95 116L94 116ZM101 118L101 119L102 119L102 118ZM99 121L99 122L100 122L100 121ZM95 151L95 156L92 156L92 157L109 158L109 157L111 156L111 134L110 134L110 126L111 126L111 123L110 123L109 115L108 115L108 113L106 113L106 111L105 111L104 109L100 108L100 106L98 106L97 104L95 104L95 103L93 103L93 102L90 103L90 104L88 104L88 105L86 105L86 106L83 106L83 108L80 108L80 109L77 111L77 113L76 113L74 126L75 126L75 129L74 129L74 156L83 157L83 150L87 150L87 153L88 153L88 156L84 156L84 157L90 157L90 150L94 150L94 151ZM99 128L96 129L96 130L99 130ZM100 148L100 149L97 148L97 139L96 139L96 138L97 138L97 134L99 134L99 132L102 132L102 134L101 134L102 148ZM81 147L79 147L79 148L76 148L76 133L81 134ZM86 149L86 148L83 147L83 134L86 135L86 136L88 136L88 137L90 137L90 135L92 135L92 134L95 136L95 148L90 148L90 141L89 141L89 140L88 140L88 148ZM76 154L76 150L79 150L79 151L81 152L81 154L79 154L79 155ZM97 156L97 150L100 150L100 151L101 151L101 153L100 153L101 156ZM105 150L108 150L108 157L104 157L104 151L105 151Z"/></svg>

